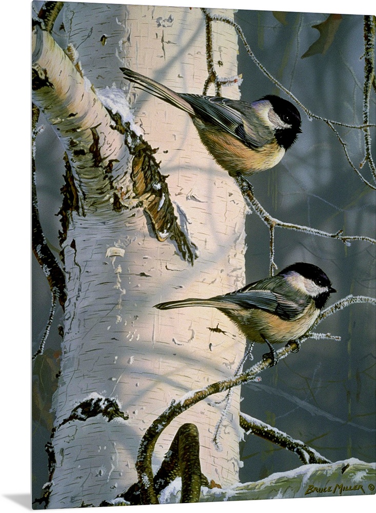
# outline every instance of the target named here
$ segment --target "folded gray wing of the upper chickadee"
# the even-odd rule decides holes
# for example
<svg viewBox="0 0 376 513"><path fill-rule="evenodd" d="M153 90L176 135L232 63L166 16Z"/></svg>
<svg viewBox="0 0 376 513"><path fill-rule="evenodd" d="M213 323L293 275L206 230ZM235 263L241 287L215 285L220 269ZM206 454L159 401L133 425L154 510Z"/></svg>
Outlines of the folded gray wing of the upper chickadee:
<svg viewBox="0 0 376 513"><path fill-rule="evenodd" d="M250 148L260 148L273 139L273 131L263 125L252 106L222 96L179 94L205 123L219 126Z"/></svg>

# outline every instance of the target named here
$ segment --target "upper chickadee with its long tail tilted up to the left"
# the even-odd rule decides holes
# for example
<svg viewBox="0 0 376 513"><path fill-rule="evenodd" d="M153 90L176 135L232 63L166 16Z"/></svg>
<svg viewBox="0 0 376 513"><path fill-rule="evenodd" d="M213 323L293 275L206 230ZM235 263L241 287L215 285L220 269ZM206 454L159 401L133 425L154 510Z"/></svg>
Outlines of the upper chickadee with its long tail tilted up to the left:
<svg viewBox="0 0 376 513"><path fill-rule="evenodd" d="M200 139L231 176L270 169L301 133L298 109L269 94L251 104L221 96L176 93L147 76L120 68L130 82L188 112Z"/></svg>

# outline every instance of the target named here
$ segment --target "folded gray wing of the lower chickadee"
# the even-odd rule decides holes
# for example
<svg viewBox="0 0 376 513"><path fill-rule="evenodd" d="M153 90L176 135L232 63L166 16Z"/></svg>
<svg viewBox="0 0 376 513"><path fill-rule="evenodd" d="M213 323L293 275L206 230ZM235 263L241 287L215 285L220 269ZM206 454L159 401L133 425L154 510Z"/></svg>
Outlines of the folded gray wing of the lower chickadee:
<svg viewBox="0 0 376 513"><path fill-rule="evenodd" d="M260 310L278 315L278 317L285 321L292 321L298 317L307 306L306 301L298 303L282 294L262 289L231 292L213 298L213 300L223 303L223 309L226 309L226 306L227 308L233 308L235 305L245 309L259 308ZM217 306L217 308L220 307Z"/></svg>

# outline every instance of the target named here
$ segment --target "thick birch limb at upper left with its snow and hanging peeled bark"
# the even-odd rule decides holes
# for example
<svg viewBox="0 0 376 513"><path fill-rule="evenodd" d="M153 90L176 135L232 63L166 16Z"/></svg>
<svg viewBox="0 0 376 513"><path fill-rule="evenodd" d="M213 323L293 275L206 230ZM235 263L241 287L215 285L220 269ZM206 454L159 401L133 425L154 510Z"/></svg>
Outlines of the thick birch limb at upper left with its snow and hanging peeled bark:
<svg viewBox="0 0 376 513"><path fill-rule="evenodd" d="M34 27L34 103L56 130L68 162L74 163L70 168L82 211L109 212L109 204L115 211L140 206L157 240L173 240L177 252L193 265L197 248L177 223L155 151L126 122L131 114L124 91L97 93L83 75L74 49L68 53L71 58L47 31ZM118 110L112 112L107 104Z"/></svg>

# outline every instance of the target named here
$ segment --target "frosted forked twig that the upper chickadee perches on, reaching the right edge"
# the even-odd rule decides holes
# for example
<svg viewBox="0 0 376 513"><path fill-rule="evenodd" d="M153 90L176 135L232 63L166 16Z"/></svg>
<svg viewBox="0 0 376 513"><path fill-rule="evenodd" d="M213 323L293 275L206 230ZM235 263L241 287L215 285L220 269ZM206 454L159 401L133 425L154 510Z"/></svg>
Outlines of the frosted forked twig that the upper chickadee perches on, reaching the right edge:
<svg viewBox="0 0 376 513"><path fill-rule="evenodd" d="M319 237L324 237L327 239L338 239L343 242L346 246L351 244L351 241L364 241L370 244L376 244L376 240L371 237L363 236L363 235L344 235L343 230L339 230L336 233L329 233L323 230L318 230L316 228L311 228L310 226L302 226L295 223L286 223L284 221L280 221L279 219L273 218L264 207L256 200L252 186L250 183L242 176L236 176L236 183L238 184L243 197L246 202L252 209L259 215L259 217L264 221L264 223L269 228L270 232L270 274L272 275L274 270L276 269L276 265L274 263L274 229L275 228L285 228L288 230L301 231L304 233L308 233L310 235L316 235Z"/></svg>

